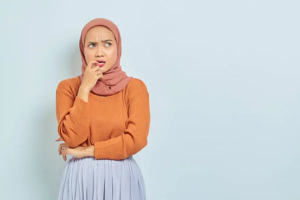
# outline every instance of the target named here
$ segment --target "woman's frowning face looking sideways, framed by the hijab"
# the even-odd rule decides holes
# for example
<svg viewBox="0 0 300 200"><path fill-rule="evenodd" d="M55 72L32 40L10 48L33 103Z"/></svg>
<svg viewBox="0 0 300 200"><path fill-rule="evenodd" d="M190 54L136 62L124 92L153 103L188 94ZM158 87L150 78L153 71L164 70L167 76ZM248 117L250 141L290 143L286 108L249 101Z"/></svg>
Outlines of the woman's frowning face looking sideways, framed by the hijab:
<svg viewBox="0 0 300 200"><path fill-rule="evenodd" d="M88 63L90 60L104 61L102 72L108 71L117 58L117 43L114 34L105 26L90 28L84 40L84 56Z"/></svg>

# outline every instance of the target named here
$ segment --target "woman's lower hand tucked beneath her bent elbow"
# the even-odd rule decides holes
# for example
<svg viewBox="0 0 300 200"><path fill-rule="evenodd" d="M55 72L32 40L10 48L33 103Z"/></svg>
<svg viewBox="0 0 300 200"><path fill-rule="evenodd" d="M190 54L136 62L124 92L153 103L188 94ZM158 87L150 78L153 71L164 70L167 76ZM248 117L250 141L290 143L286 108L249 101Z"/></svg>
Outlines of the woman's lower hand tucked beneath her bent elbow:
<svg viewBox="0 0 300 200"><path fill-rule="evenodd" d="M66 143L60 143L58 146L58 154L62 156L63 160L66 161L66 155L72 155L77 158L82 158L87 156L86 155L86 147L77 146L75 148L69 147Z"/></svg>

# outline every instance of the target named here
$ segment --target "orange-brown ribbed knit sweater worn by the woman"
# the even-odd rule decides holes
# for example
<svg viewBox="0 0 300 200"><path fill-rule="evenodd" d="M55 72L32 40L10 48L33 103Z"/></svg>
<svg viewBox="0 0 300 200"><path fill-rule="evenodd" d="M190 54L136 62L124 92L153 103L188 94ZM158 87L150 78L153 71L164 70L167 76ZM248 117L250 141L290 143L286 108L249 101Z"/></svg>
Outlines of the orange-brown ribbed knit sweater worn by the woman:
<svg viewBox="0 0 300 200"><path fill-rule="evenodd" d="M58 134L68 146L94 145L96 159L124 159L147 144L149 94L141 80L111 96L89 92L88 102L77 97L79 86L75 77L56 89Z"/></svg>

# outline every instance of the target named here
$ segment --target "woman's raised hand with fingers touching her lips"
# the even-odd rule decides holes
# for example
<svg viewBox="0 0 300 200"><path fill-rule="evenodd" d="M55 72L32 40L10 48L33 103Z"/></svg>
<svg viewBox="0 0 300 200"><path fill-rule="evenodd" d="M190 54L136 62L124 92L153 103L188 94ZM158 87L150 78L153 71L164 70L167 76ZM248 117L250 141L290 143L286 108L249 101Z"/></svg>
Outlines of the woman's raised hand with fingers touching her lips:
<svg viewBox="0 0 300 200"><path fill-rule="evenodd" d="M95 86L97 80L103 77L101 68L96 65L98 63L96 60L88 62L79 89L89 92Z"/></svg>

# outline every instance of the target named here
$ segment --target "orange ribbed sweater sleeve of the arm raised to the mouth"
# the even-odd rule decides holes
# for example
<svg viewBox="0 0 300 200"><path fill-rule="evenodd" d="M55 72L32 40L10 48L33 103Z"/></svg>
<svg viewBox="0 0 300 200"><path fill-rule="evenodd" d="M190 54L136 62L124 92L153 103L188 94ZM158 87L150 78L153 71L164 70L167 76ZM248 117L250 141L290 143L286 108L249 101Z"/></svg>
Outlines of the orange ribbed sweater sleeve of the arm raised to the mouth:
<svg viewBox="0 0 300 200"><path fill-rule="evenodd" d="M83 143L89 134L88 102L75 96L66 82L56 89L58 135L70 147Z"/></svg>

